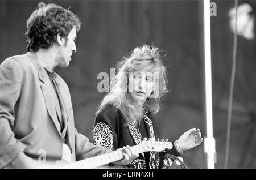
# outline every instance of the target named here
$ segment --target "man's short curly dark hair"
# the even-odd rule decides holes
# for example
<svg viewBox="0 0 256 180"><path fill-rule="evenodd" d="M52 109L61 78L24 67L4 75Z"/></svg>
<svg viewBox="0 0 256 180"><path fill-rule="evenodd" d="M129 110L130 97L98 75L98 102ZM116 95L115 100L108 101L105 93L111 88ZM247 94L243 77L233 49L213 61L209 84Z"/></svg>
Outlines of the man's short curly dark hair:
<svg viewBox="0 0 256 180"><path fill-rule="evenodd" d="M37 8L27 20L27 50L37 52L39 48L48 49L57 41L57 35L67 39L73 27L78 32L80 19L73 12L50 3Z"/></svg>

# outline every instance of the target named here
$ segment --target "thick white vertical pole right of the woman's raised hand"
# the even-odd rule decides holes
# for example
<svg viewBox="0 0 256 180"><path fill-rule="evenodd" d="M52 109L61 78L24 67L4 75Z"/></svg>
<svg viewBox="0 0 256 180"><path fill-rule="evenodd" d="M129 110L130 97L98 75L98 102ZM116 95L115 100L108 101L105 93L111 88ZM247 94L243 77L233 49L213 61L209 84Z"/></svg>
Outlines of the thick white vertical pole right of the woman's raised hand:
<svg viewBox="0 0 256 180"><path fill-rule="evenodd" d="M216 151L212 122L212 66L210 51L210 1L204 0L205 106L207 127L207 136L204 138L204 152L207 155L207 168L214 169Z"/></svg>

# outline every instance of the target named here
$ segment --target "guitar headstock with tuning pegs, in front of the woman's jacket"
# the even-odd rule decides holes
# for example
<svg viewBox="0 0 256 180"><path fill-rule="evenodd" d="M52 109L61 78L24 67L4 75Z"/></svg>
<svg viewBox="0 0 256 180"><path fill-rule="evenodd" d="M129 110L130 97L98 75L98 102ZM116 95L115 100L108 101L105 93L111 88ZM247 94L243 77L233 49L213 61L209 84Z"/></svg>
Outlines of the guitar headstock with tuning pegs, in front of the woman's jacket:
<svg viewBox="0 0 256 180"><path fill-rule="evenodd" d="M170 150L172 149L172 143L168 142L168 139L161 139L161 140L155 140L155 139L147 139L144 138L142 140L141 145L143 146L144 152L147 151L155 151L160 152L164 150Z"/></svg>

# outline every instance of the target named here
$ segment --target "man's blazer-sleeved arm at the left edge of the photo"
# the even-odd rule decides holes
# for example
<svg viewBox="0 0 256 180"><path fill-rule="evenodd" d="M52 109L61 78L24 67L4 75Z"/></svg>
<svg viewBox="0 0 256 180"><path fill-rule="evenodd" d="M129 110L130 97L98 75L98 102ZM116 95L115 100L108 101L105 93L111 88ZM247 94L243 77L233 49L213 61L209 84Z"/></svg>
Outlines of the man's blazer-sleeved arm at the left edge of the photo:
<svg viewBox="0 0 256 180"><path fill-rule="evenodd" d="M26 148L15 138L14 108L19 99L22 84L22 67L14 59L0 65L0 168L6 166Z"/></svg>

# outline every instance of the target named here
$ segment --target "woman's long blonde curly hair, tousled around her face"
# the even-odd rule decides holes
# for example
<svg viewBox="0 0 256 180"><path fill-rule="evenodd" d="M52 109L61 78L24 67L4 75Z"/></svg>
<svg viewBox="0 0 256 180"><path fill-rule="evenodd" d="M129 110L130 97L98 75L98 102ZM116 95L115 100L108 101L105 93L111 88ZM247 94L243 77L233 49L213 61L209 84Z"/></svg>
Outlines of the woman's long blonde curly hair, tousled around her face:
<svg viewBox="0 0 256 180"><path fill-rule="evenodd" d="M117 64L117 70L117 74L110 82L110 91L98 107L96 117L108 104L119 108L127 124L137 125L137 121L143 117L145 110L157 113L160 109L160 100L168 92L166 67L163 65L159 49L150 45L138 46L122 58ZM127 91L129 72L137 71L157 72L158 74L158 79L156 79L158 93L156 95L152 92L154 98L147 98L143 106L139 105Z"/></svg>

